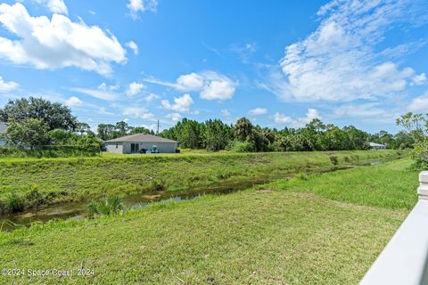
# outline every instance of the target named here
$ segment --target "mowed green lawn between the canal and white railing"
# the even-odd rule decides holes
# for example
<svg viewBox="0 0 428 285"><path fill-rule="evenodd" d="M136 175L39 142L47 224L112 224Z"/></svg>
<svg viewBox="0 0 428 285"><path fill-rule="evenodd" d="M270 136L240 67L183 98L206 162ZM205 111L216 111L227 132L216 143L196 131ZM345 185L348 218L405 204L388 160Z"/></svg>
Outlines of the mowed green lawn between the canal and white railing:
<svg viewBox="0 0 428 285"><path fill-rule="evenodd" d="M409 159L0 233L22 284L357 284L416 203Z"/></svg>

